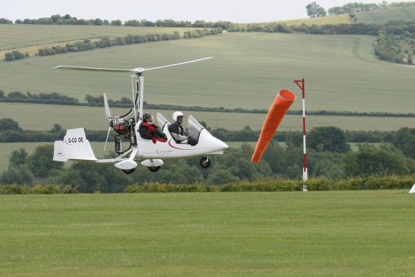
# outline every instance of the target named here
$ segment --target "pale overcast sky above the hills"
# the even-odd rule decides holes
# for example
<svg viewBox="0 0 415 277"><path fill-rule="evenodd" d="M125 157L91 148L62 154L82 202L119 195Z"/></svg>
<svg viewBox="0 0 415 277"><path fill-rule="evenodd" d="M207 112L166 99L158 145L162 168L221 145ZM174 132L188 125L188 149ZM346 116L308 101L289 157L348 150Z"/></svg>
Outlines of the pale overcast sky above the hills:
<svg viewBox="0 0 415 277"><path fill-rule="evenodd" d="M260 23L307 18L306 5L316 1L326 11L333 6L355 0L13 0L1 4L0 18L38 19L55 14L78 19L101 18L138 21L172 19L174 21L231 21ZM358 3L379 4L381 0L360 0Z"/></svg>

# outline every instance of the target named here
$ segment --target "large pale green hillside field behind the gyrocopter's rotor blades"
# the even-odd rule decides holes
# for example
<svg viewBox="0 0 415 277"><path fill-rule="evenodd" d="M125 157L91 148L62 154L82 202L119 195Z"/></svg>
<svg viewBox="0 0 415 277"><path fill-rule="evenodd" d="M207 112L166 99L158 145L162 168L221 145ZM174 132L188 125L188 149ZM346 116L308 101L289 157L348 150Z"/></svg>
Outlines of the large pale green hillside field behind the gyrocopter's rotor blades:
<svg viewBox="0 0 415 277"><path fill-rule="evenodd" d="M413 112L414 68L383 63L372 55L370 36L223 33L201 39L31 57L2 62L0 89L58 92L84 100L106 92L129 97L128 74L53 70L56 65L155 67L214 59L145 73L145 100L152 104L266 109L280 89L301 97L294 80L306 80L311 111ZM301 109L301 101L292 109Z"/></svg>

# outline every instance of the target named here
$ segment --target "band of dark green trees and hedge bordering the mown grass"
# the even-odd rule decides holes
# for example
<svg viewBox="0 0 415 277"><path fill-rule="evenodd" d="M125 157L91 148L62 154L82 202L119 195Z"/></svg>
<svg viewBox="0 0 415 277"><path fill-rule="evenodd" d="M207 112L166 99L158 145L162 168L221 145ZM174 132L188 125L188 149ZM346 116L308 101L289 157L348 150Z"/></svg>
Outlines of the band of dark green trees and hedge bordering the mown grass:
<svg viewBox="0 0 415 277"><path fill-rule="evenodd" d="M300 135L301 138L301 135ZM415 129L403 128L390 142L360 143L351 150L345 131L329 126L316 127L307 136L307 168L312 190L363 190L411 188L415 170ZM209 169L199 167L199 158L165 161L152 173L139 166L126 175L109 163L79 164L52 161L52 143L38 146L28 155L24 148L13 151L9 168L0 175L0 184L78 192L275 191L301 190L301 139L296 134L284 144L272 140L262 161L251 163L253 146L231 147L212 157ZM114 158L114 152L104 158ZM165 184L165 185L160 185ZM213 188L211 186L218 186ZM41 188L36 188L40 190ZM18 188L16 188L18 190ZM1 188L0 188L1 193ZM33 192L35 193L35 192Z"/></svg>

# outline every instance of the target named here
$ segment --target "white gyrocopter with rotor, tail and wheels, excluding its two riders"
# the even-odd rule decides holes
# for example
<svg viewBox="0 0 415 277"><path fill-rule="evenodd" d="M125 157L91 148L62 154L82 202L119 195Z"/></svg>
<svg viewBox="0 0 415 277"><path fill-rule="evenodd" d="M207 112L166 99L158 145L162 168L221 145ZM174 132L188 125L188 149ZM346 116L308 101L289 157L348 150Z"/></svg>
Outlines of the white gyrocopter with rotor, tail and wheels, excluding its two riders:
<svg viewBox="0 0 415 277"><path fill-rule="evenodd" d="M213 58L213 57L210 57ZM191 60L185 63L193 63L200 60ZM120 168L124 173L133 173L140 161L141 165L148 167L149 170L155 172L163 165L163 159L174 158L192 158L201 156L199 164L202 168L209 168L211 161L209 156L222 154L227 149L226 143L220 139L216 139L207 131L193 116L187 119L187 129L189 137L192 138L192 144L178 143L168 130L171 124L162 114L157 113L158 126L167 136L167 141L156 141L153 143L150 139L143 139L138 133L138 127L143 119L143 98L144 98L144 76L143 72L155 70L163 67L171 67L182 65L185 63L177 63L174 65L165 65L161 67L142 68L138 67L133 70L96 68L96 67L76 67L59 65L55 68L67 70L87 70L101 72L134 72L131 76L133 90L133 107L123 116L112 116L106 94L104 94L104 107L106 116L109 119L109 130L106 141L111 129L116 132L115 151L118 155L116 158L98 159L92 151L92 147L85 136L83 128L69 129L63 141L55 141L55 149L53 154L54 161L76 161L78 163L115 163L116 168ZM128 140L128 148L123 150L122 139ZM124 141L125 144L125 141ZM104 149L106 148L106 143Z"/></svg>

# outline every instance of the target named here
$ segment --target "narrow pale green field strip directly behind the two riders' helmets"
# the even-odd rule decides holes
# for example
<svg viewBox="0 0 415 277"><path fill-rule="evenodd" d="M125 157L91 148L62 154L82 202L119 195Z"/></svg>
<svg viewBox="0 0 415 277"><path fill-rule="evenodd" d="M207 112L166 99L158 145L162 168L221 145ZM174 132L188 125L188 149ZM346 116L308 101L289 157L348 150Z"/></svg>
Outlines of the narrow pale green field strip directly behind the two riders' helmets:
<svg viewBox="0 0 415 277"><path fill-rule="evenodd" d="M301 102L301 100L297 100ZM2 118L13 117L19 126L25 130L46 131L54 124L60 124L64 129L84 127L90 130L108 129L108 120L104 107L77 107L59 105L31 105L0 103ZM111 109L114 115L121 115L128 109ZM175 111L145 109L155 116L160 112L169 121ZM226 112L193 112L183 110L186 116L192 115L199 121L206 122L211 129L228 129L239 131L245 126L260 131L265 114L245 114ZM133 115L132 115L133 117ZM184 126L187 126L185 119ZM310 130L316 126L338 126L349 131L398 131L402 127L414 126L415 118L411 117L382 117L382 116L316 116L306 115L306 127ZM280 131L302 131L302 114L287 114L284 116Z"/></svg>

